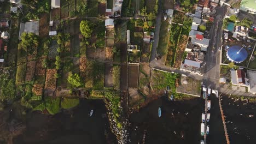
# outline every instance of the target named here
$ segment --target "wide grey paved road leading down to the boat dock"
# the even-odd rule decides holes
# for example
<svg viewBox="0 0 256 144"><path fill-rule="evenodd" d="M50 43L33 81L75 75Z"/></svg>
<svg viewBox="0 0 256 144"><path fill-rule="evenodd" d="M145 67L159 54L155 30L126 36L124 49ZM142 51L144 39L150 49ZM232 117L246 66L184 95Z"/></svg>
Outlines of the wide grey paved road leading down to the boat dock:
<svg viewBox="0 0 256 144"><path fill-rule="evenodd" d="M225 7L218 7L216 15L210 31L211 41L206 52L205 74L203 75L203 82L212 89L219 87L220 51L218 51L218 47L222 46L222 25Z"/></svg>

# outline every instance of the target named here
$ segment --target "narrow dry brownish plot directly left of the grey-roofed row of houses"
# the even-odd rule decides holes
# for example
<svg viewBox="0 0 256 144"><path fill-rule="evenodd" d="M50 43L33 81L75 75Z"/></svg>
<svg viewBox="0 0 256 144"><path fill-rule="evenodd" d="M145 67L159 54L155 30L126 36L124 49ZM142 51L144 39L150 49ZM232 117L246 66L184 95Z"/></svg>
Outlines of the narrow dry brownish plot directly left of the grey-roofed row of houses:
<svg viewBox="0 0 256 144"><path fill-rule="evenodd" d="M188 36L187 35L181 35L181 38L179 38L179 43L177 45L176 53L175 53L175 62L174 62L174 68L180 68L181 63L183 61L183 55L184 51L186 49Z"/></svg>

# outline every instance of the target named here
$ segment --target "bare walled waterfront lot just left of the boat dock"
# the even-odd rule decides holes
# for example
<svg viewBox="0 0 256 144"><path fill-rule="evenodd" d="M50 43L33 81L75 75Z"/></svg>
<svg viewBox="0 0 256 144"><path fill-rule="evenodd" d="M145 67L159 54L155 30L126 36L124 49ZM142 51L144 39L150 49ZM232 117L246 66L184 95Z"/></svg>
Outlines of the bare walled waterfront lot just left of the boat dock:
<svg viewBox="0 0 256 144"><path fill-rule="evenodd" d="M197 95L200 97L201 81L192 79L190 77L181 76L181 79L179 79L179 82L177 82L176 92Z"/></svg>

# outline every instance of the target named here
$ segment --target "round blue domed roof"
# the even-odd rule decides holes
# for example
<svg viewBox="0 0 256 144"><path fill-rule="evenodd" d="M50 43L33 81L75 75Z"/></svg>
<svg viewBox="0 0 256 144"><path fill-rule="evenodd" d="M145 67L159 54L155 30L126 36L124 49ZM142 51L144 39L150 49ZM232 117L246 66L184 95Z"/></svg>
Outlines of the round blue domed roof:
<svg viewBox="0 0 256 144"><path fill-rule="evenodd" d="M245 61L248 56L246 49L242 48L241 46L232 46L229 48L226 56L229 58L230 61L235 63L241 63Z"/></svg>

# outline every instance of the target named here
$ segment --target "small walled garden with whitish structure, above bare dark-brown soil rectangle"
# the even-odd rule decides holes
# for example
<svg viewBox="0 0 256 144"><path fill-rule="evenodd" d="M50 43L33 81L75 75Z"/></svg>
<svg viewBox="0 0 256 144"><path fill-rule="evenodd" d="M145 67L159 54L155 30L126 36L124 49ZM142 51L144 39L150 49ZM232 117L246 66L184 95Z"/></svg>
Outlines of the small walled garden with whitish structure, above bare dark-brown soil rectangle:
<svg viewBox="0 0 256 144"><path fill-rule="evenodd" d="M128 63L139 63L139 56L141 55L141 47L139 45L128 45Z"/></svg>

